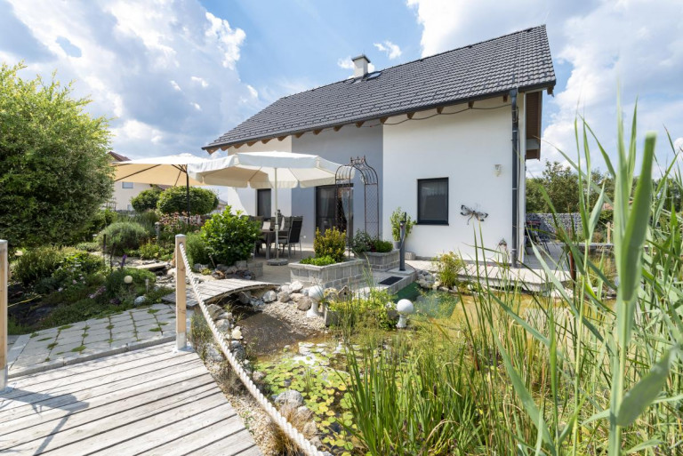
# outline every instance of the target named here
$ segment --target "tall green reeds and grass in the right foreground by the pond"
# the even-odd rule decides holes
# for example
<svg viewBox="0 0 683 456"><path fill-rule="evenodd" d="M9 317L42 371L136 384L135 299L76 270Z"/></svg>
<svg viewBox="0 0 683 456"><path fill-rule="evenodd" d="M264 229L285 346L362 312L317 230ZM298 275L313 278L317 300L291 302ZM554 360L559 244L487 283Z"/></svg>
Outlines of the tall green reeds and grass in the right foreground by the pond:
<svg viewBox="0 0 683 456"><path fill-rule="evenodd" d="M488 269L476 268L484 274L472 277L482 285L477 310L461 300L458 331L435 342L432 324L399 334L406 348L392 342L378 353L374 344L349 356L355 434L367 452L683 454L683 216L664 204L683 180L671 164L669 179L654 184L655 136L638 152L636 119L627 141L619 118L615 162L588 124L575 124L577 156L566 159L588 188L584 241L560 239L575 258L574 282L561 283L542 260L550 293L522 306L511 270L494 292ZM591 143L615 179L614 201L591 181ZM616 278L589 254L604 203L614 206ZM479 248L478 261L493 254Z"/></svg>

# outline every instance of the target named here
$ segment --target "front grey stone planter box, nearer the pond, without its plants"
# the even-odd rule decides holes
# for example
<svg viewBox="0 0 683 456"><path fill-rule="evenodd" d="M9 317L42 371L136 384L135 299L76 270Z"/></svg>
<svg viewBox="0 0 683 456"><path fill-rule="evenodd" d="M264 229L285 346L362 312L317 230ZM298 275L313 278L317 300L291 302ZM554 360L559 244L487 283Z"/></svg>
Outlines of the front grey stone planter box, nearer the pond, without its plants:
<svg viewBox="0 0 683 456"><path fill-rule="evenodd" d="M289 263L292 282L298 280L302 284L316 284L323 288L339 288L345 284L355 284L363 279L363 269L366 261L359 259L347 260L329 266L314 266L299 262Z"/></svg>

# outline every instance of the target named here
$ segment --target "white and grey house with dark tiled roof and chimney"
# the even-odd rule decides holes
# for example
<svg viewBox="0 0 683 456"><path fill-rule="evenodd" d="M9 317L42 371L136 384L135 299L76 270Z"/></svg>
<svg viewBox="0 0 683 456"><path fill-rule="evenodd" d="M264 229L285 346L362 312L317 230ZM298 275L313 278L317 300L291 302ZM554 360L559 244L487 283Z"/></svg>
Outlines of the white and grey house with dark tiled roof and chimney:
<svg viewBox="0 0 683 456"><path fill-rule="evenodd" d="M379 177L384 238L400 206L417 220L407 248L418 256L470 257L481 233L487 247L507 244L517 260L526 160L540 157L542 93L556 82L545 27L371 73L365 55L354 63L354 77L277 100L205 150L283 150L339 164L365 156ZM353 201L341 210L345 228L366 227L374 209L368 212L363 190L356 179L346 188L294 188L278 197L282 212L304 216L310 244L316 228L339 223L344 195ZM257 214L269 211L270 197L270 190L232 189L228 202Z"/></svg>

